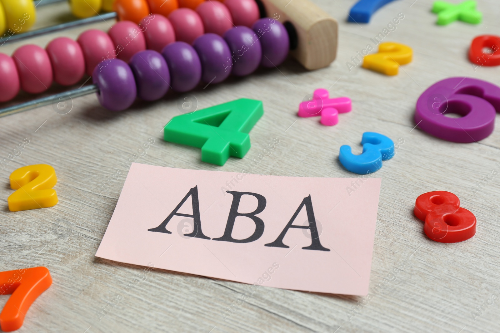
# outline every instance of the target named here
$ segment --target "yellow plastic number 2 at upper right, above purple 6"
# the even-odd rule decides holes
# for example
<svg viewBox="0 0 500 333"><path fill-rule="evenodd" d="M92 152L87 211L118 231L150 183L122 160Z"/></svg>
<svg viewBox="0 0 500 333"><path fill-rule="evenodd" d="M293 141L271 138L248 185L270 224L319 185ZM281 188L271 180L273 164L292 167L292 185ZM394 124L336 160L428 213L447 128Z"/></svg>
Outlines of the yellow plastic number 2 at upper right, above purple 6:
<svg viewBox="0 0 500 333"><path fill-rule="evenodd" d="M396 75L399 65L409 63L412 55L413 50L409 46L385 42L378 46L378 53L363 57L363 67L385 75Z"/></svg>

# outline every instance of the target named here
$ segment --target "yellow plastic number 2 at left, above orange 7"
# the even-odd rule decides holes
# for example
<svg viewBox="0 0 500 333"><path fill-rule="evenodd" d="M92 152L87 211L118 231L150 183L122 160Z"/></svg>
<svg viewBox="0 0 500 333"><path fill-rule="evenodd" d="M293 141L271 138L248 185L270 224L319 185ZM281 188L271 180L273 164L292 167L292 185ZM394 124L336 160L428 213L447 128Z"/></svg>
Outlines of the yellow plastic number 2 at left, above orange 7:
<svg viewBox="0 0 500 333"><path fill-rule="evenodd" d="M12 172L9 178L10 188L17 190L7 199L11 212L52 207L58 202L52 189L57 177L48 164L27 165Z"/></svg>

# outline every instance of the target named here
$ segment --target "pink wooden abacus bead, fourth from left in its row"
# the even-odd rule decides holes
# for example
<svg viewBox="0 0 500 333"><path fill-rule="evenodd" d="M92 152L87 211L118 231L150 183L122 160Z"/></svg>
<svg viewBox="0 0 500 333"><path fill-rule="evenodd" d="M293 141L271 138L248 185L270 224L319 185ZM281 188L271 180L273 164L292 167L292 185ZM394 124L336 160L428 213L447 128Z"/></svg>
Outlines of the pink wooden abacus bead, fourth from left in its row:
<svg viewBox="0 0 500 333"><path fill-rule="evenodd" d="M80 44L85 58L85 73L92 76L92 72L102 60L116 57L113 41L104 31L90 29L82 32L76 40Z"/></svg>

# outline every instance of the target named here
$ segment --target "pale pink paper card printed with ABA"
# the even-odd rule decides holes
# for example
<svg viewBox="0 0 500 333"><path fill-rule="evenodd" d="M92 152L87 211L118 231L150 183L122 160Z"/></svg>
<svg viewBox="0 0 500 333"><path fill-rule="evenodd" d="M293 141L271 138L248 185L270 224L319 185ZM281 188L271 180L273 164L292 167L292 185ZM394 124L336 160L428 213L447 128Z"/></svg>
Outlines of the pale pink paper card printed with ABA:
<svg viewBox="0 0 500 333"><path fill-rule="evenodd" d="M366 295L380 178L133 163L96 257L265 287Z"/></svg>

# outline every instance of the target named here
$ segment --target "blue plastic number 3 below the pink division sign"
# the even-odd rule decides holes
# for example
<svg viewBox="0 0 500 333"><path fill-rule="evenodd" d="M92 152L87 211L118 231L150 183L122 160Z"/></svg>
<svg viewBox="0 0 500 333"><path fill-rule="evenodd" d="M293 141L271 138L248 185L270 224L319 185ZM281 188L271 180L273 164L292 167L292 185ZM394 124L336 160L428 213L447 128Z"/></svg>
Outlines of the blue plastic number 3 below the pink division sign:
<svg viewBox="0 0 500 333"><path fill-rule="evenodd" d="M385 135L375 132L364 132L361 139L363 153L354 155L347 145L340 147L338 159L345 169L359 175L366 175L382 167L382 160L395 155L394 142Z"/></svg>

